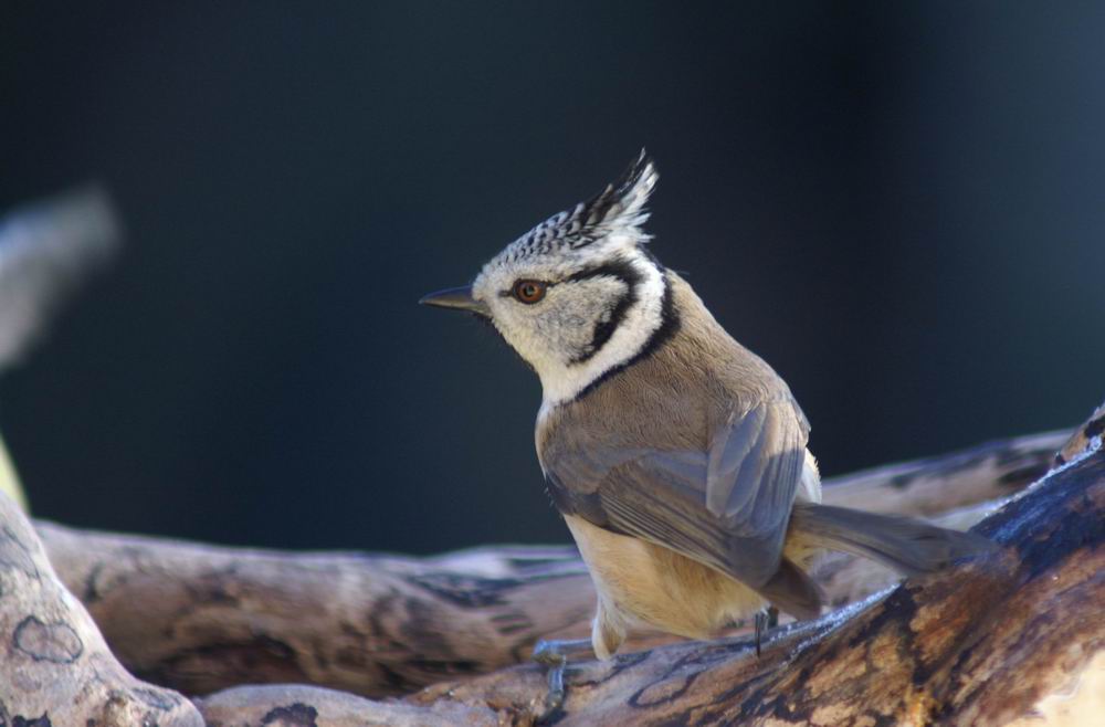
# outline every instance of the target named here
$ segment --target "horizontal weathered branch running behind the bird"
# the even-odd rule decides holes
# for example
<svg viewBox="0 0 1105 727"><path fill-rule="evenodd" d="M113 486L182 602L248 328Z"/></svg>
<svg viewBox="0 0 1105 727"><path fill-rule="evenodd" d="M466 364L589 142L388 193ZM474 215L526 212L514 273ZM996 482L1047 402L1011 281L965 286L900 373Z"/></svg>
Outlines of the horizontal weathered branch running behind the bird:
<svg viewBox="0 0 1105 727"><path fill-rule="evenodd" d="M933 514L1004 496L1046 471L1065 439L1019 438L873 470L827 483L825 499L893 498L897 512ZM188 694L262 682L403 694L525 661L537 639L582 636L593 613L590 579L568 547L294 555L38 527L116 655ZM819 579L838 604L896 581L846 556ZM629 647L663 641L640 634Z"/></svg>

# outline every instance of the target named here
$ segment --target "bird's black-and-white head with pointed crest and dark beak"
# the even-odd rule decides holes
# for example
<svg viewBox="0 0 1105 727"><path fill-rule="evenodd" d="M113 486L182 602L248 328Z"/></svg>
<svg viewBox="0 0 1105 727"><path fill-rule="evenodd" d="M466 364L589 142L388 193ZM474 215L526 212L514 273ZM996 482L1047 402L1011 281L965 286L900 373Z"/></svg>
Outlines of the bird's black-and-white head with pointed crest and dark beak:
<svg viewBox="0 0 1105 727"><path fill-rule="evenodd" d="M421 303L486 317L537 371L546 403L575 398L639 355L670 314L642 230L656 178L642 150L621 179L512 242L472 285Z"/></svg>

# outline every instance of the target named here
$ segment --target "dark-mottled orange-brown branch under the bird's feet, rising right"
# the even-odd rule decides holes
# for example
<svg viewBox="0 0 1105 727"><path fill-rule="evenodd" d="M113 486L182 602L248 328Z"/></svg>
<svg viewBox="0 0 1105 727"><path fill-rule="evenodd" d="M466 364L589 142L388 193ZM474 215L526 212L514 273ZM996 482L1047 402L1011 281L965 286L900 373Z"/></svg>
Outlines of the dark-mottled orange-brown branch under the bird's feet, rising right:
<svg viewBox="0 0 1105 727"><path fill-rule="evenodd" d="M1093 438L1090 438L1091 440ZM1011 498L978 530L1002 547L812 623L577 664L552 721L571 725L1096 725L1105 687L1105 452ZM1073 455L1072 455L1073 456ZM536 665L443 683L400 702L311 687L199 700L209 724L262 727L532 725ZM418 707L422 707L421 712ZM317 721L315 721L317 717Z"/></svg>

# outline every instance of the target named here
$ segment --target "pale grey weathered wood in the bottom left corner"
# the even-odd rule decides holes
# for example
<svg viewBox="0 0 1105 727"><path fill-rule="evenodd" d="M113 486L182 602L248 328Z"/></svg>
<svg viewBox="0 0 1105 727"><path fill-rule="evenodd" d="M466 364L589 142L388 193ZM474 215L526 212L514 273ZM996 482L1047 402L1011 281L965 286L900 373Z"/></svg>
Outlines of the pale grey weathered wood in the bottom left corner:
<svg viewBox="0 0 1105 727"><path fill-rule="evenodd" d="M34 529L0 493L0 725L199 727L196 708L139 682L62 586Z"/></svg>

